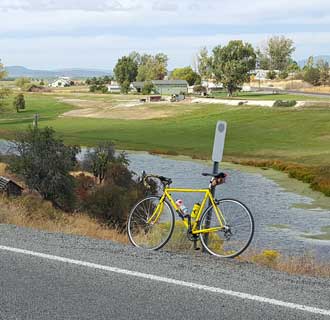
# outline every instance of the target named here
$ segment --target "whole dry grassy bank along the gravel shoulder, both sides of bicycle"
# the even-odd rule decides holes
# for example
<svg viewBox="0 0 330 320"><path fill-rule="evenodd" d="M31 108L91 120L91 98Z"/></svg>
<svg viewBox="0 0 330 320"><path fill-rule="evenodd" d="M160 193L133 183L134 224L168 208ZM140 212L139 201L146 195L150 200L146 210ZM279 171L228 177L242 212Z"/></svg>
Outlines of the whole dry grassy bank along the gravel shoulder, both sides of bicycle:
<svg viewBox="0 0 330 320"><path fill-rule="evenodd" d="M127 235L110 229L84 213L67 214L54 209L35 194L21 198L0 196L0 224L14 224L49 232L60 232L87 236L96 239L112 240L128 244ZM186 237L186 231L176 226L175 232L165 250L196 254L192 242ZM248 250L236 258L290 274L302 274L315 277L330 277L330 265L317 262L312 256L285 257L275 250Z"/></svg>

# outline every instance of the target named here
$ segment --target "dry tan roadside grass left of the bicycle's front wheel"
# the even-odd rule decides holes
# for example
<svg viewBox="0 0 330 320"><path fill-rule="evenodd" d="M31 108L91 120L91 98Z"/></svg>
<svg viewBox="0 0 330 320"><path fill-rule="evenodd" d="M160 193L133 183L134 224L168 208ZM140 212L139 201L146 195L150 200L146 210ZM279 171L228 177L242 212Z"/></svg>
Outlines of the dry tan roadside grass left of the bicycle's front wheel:
<svg viewBox="0 0 330 320"><path fill-rule="evenodd" d="M100 224L87 214L67 214L37 195L8 199L0 196L0 223L14 224L50 232L62 232L127 243L127 236Z"/></svg>

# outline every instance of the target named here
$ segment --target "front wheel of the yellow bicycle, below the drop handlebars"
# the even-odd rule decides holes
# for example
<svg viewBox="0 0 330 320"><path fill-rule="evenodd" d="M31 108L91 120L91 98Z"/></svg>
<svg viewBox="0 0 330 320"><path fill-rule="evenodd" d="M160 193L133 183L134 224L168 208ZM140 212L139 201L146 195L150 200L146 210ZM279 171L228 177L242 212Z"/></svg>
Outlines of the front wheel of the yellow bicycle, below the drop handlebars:
<svg viewBox="0 0 330 320"><path fill-rule="evenodd" d="M127 223L130 242L140 248L158 250L171 238L174 213L166 200L147 197L132 209Z"/></svg>

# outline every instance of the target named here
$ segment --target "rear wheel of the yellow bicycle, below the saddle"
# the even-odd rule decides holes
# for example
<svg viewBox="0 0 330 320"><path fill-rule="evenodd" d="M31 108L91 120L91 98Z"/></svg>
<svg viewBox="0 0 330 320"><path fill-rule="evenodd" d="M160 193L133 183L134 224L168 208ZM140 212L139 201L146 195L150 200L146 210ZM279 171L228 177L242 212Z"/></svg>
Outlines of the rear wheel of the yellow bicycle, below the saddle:
<svg viewBox="0 0 330 320"><path fill-rule="evenodd" d="M250 210L234 199L223 199L206 209L200 221L200 239L203 247L211 254L233 258L240 255L252 241L254 220ZM219 221L219 216L222 222ZM209 229L209 232L205 232ZM205 230L203 232L203 230Z"/></svg>

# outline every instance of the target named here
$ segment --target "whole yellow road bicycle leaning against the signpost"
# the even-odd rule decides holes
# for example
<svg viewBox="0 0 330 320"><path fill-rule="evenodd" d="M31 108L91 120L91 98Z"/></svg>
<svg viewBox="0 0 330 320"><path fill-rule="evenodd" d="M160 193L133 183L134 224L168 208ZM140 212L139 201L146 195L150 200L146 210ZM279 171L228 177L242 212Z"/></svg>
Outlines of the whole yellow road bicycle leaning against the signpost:
<svg viewBox="0 0 330 320"><path fill-rule="evenodd" d="M226 258L236 257L246 250L254 234L254 220L250 210L235 199L214 199L212 190L225 183L226 174L202 175L211 176L208 189L170 188L170 178L146 175L143 179L145 185L150 186L149 179L158 179L163 193L146 197L134 206L127 224L130 242L148 250L162 248L173 233L176 211L187 228L188 239L194 241L195 247L200 240L210 254ZM178 192L200 193L204 194L204 198L188 214L180 209L172 197L172 193Z"/></svg>

